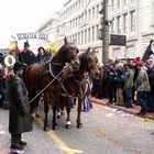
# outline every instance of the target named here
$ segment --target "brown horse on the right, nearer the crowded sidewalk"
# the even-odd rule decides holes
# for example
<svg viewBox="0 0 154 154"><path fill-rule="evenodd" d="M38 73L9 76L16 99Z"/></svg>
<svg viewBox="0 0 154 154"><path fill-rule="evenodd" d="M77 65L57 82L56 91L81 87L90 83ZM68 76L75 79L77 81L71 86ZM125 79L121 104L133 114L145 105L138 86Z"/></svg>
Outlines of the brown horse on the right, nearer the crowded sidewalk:
<svg viewBox="0 0 154 154"><path fill-rule="evenodd" d="M70 123L70 97L78 98L78 107L77 107L77 128L82 128L82 123L80 120L81 105L84 101L84 91L85 91L85 73L89 73L95 77L99 77L100 69L98 65L98 58L95 55L95 50L91 52L90 47L79 55L80 67L79 70L73 72L72 76L64 80L65 91L62 94L64 101L66 102L66 111L67 111L67 123L66 128L72 128ZM67 91L67 92L66 92ZM62 101L63 103L63 101Z"/></svg>

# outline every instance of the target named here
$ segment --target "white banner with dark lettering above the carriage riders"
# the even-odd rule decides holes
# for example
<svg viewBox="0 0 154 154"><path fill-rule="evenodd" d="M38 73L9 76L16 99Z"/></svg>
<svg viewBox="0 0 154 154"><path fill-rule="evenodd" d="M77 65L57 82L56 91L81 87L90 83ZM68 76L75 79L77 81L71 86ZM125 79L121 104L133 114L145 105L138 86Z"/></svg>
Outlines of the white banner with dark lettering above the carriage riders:
<svg viewBox="0 0 154 154"><path fill-rule="evenodd" d="M48 34L45 33L37 33L37 32L33 32L33 33L18 33L16 34L18 40L48 40Z"/></svg>

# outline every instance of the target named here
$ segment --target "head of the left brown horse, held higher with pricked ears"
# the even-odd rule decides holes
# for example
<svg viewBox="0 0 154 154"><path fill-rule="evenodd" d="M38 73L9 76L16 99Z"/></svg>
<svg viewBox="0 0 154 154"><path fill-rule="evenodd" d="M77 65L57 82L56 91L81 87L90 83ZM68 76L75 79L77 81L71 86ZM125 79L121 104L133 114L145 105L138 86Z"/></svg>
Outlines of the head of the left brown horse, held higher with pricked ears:
<svg viewBox="0 0 154 154"><path fill-rule="evenodd" d="M66 62L70 64L74 70L79 69L80 61L78 57L78 48L74 45L74 43L69 43L66 37L64 38L64 43L63 47L66 52Z"/></svg>

